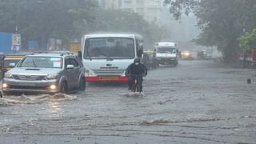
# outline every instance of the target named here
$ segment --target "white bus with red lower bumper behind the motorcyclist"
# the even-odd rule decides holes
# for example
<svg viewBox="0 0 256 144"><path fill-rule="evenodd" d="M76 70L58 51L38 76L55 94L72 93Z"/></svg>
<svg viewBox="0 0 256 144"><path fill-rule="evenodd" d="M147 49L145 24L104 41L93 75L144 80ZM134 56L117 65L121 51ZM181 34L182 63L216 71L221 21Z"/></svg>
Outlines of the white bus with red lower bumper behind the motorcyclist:
<svg viewBox="0 0 256 144"><path fill-rule="evenodd" d="M128 82L126 68L142 58L143 38L138 34L86 34L82 38L86 82Z"/></svg>

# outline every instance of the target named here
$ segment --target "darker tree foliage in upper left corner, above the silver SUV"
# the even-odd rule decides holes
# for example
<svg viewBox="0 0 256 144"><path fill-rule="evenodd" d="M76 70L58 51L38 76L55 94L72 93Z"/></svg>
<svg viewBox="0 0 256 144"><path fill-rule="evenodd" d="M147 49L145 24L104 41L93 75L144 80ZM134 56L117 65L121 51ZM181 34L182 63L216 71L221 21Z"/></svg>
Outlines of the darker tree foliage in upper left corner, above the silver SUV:
<svg viewBox="0 0 256 144"><path fill-rule="evenodd" d="M69 39L81 33L78 23L94 18L94 0L0 0L0 31L18 33L39 41Z"/></svg>

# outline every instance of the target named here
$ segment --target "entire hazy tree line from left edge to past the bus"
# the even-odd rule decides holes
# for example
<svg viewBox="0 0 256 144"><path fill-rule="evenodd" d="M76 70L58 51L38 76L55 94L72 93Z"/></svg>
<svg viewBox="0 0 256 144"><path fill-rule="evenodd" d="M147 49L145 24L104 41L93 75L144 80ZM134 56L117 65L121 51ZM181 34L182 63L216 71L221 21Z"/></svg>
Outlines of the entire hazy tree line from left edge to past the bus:
<svg viewBox="0 0 256 144"><path fill-rule="evenodd" d="M44 47L48 38L69 42L96 31L134 32L146 42L169 33L156 22L146 22L131 11L102 10L95 0L0 0L0 31L22 34L22 43L37 40ZM24 46L26 47L26 46Z"/></svg>

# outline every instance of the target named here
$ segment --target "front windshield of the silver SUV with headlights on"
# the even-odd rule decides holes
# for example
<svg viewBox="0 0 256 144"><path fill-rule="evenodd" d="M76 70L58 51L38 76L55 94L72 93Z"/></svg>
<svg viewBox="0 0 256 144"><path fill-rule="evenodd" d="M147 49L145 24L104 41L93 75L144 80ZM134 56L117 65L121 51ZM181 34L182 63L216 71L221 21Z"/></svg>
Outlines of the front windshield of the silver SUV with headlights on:
<svg viewBox="0 0 256 144"><path fill-rule="evenodd" d="M62 58L27 56L18 67L62 68Z"/></svg>

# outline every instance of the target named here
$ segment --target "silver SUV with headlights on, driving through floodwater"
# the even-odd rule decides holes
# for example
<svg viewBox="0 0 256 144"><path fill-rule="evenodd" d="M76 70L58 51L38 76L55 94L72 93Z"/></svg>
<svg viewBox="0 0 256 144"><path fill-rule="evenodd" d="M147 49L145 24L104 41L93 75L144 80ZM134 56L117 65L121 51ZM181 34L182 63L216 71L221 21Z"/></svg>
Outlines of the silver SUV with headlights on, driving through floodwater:
<svg viewBox="0 0 256 144"><path fill-rule="evenodd" d="M10 63L10 66L14 66ZM2 91L8 93L69 93L85 90L85 69L74 54L67 52L26 55L6 72Z"/></svg>

